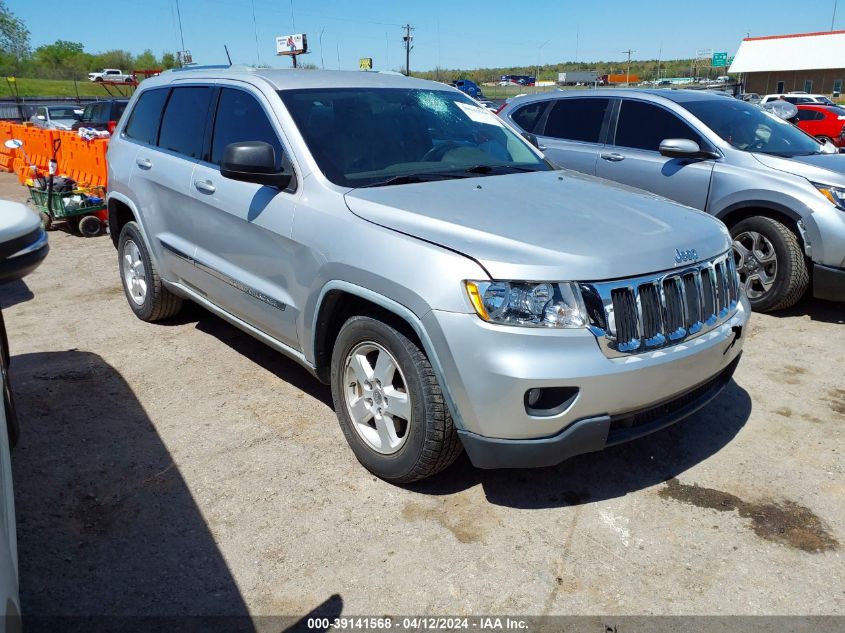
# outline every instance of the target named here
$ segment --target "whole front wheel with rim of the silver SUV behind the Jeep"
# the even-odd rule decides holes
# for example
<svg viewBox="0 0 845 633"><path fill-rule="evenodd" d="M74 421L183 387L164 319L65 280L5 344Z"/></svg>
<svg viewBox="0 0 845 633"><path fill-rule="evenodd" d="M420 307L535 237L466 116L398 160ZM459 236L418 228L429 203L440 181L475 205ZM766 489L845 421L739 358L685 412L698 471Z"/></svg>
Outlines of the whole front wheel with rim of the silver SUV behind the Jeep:
<svg viewBox="0 0 845 633"><path fill-rule="evenodd" d="M810 283L798 237L784 224L764 216L731 228L740 285L757 312L794 305Z"/></svg>

